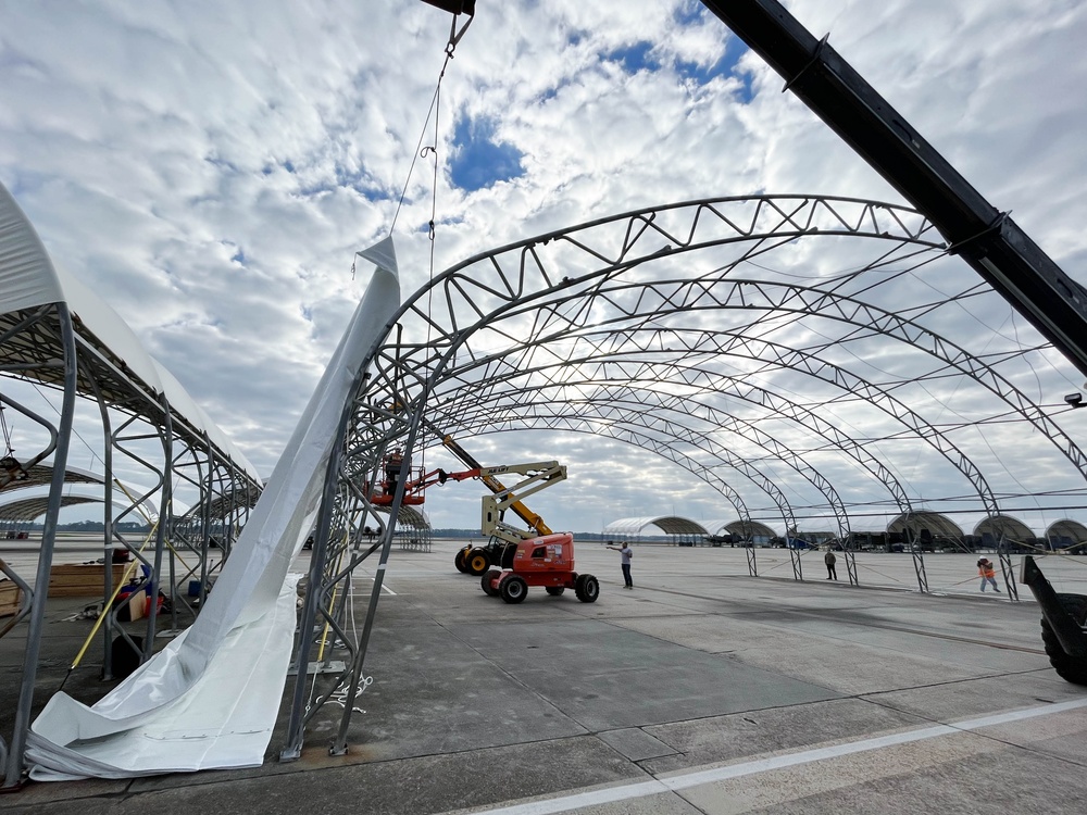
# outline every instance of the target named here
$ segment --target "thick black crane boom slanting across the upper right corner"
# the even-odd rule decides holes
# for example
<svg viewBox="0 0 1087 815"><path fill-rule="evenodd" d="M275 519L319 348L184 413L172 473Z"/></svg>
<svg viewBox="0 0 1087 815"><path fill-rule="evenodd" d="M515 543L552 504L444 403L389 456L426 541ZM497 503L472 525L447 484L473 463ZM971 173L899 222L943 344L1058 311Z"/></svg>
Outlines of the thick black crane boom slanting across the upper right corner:
<svg viewBox="0 0 1087 815"><path fill-rule="evenodd" d="M702 0L1087 376L1087 290L777 0Z"/></svg>

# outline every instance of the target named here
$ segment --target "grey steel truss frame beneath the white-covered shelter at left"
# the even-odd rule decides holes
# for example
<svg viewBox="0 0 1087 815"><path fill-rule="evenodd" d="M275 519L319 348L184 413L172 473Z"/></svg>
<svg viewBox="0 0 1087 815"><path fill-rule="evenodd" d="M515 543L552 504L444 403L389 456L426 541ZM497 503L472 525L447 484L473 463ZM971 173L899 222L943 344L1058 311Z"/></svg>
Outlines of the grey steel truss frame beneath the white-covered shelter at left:
<svg viewBox="0 0 1087 815"><path fill-rule="evenodd" d="M21 456L18 465L30 468L48 459L52 468L33 578L20 575L0 560L0 570L23 591L18 612L0 629L0 636L21 625L27 627L18 699L11 702L16 711L13 732L10 740L0 735L4 788L23 780L58 513L73 439L78 436L86 441L91 436L88 427L93 424L93 413L99 417L95 435L102 442L100 450L91 451L103 466L97 479L103 490L102 560L109 564L115 550L124 550L129 565L122 585L133 580L135 591L170 597L170 627L174 631L190 623L197 612L197 605L186 597L189 581L199 580L202 594L213 559L228 553L228 548L222 553L209 551L212 536L216 529L239 529L262 488L205 432L189 425L162 393L147 386L123 360L80 328L64 302L0 315L0 404L30 428L21 448L36 448ZM35 389L38 398L57 411L55 416L28 406L32 400L27 397L35 397ZM86 415L80 416L77 405L89 406L89 411L83 411ZM78 429L77 419L83 422ZM11 478L0 482L4 497L17 496L20 486L21 481ZM179 496L190 501L192 509L175 517ZM121 529L125 521L146 524L151 532L134 539ZM230 532L225 540L230 540ZM112 600L121 587L113 585L111 568L102 572L100 653L102 678L111 679L115 639L127 640L133 650L148 659L161 625L158 603L149 603L141 636L120 626Z"/></svg>

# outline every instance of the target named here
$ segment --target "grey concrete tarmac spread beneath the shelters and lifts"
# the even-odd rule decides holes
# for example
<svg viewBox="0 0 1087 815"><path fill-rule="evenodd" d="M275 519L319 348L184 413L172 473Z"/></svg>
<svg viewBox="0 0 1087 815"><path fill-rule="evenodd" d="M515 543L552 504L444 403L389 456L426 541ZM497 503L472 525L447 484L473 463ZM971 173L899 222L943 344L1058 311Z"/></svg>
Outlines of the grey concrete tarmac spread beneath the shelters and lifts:
<svg viewBox="0 0 1087 815"><path fill-rule="evenodd" d="M637 546L627 591L619 554L586 543L577 569L600 579L598 602L530 589L508 605L453 569L457 546L392 553L347 755L328 754L329 704L301 760L277 761L285 704L261 767L32 782L0 810L1083 812L1087 688L1049 666L1029 592L982 594L970 555L942 555L937 570L957 579L921 594L908 555L866 555L890 577L851 587L840 557L842 579L823 579L821 553L798 582L782 551L760 551L766 576L752 578L742 550ZM1077 590L1087 557L1042 567ZM364 564L360 628L371 581ZM89 627L64 617L85 605L50 604L40 704ZM0 711L15 641L0 640ZM65 690L104 692L93 664Z"/></svg>

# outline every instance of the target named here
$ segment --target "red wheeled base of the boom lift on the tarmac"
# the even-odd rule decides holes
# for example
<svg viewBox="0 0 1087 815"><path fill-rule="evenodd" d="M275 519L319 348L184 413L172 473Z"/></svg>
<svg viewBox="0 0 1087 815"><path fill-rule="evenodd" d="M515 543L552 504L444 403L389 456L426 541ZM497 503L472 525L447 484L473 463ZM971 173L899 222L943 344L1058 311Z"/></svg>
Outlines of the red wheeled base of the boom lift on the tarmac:
<svg viewBox="0 0 1087 815"><path fill-rule="evenodd" d="M570 532L521 541L511 566L485 572L480 585L489 597L501 597L508 603L523 601L529 586L542 586L551 597L573 589L583 603L595 603L600 597L597 578L574 570L574 536Z"/></svg>

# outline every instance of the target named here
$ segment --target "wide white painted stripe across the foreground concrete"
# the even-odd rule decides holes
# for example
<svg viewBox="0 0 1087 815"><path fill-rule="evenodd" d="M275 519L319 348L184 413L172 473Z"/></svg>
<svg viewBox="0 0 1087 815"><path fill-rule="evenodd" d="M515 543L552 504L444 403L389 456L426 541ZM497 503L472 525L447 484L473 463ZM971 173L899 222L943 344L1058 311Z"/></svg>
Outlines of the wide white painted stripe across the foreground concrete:
<svg viewBox="0 0 1087 815"><path fill-rule="evenodd" d="M853 755L857 753L883 750L884 748L897 747L898 744L909 744L916 741L938 738L940 736L953 736L961 732L979 730L985 727L996 727L1007 725L1012 722L1048 716L1053 713L1087 707L1087 699L1077 699L1071 702L1058 702L1038 707L1026 707L1017 711L1007 711L990 716L966 719L951 725L935 725L917 730L907 730L904 732L891 734L889 736L877 736L871 739L835 744L833 747L816 748L805 750L800 753L789 753L771 758L759 758L757 761L732 764L714 769L695 770L679 775L667 776L665 778L654 778L649 781L638 781L620 787L608 789L588 790L585 792L574 792L553 798L547 801L530 801L511 806L498 806L489 810L475 810L477 813L486 815L552 815L553 813L571 812L587 806L599 806L602 804L629 801L637 798L648 798L666 792L699 787L704 783L714 783L733 778L766 773L785 767L794 767L801 764L822 762L828 758L837 758L842 755Z"/></svg>

